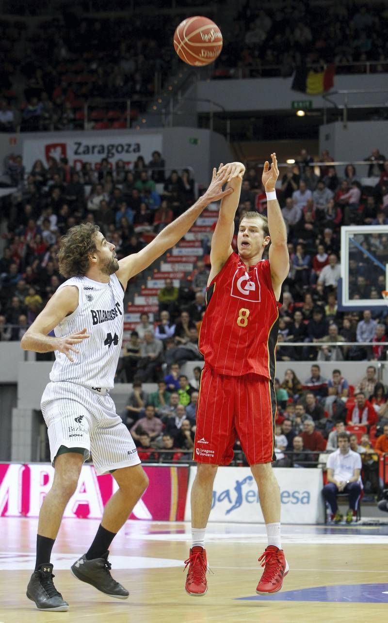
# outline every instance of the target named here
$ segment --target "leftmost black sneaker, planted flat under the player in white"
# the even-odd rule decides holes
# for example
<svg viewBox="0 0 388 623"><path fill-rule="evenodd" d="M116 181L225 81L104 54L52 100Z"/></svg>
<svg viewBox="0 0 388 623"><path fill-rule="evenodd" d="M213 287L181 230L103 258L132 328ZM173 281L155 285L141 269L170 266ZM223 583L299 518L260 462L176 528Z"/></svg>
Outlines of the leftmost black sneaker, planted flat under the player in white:
<svg viewBox="0 0 388 623"><path fill-rule="evenodd" d="M69 604L62 599L52 581L52 564L41 564L31 576L27 586L27 597L36 603L38 610L67 612Z"/></svg>

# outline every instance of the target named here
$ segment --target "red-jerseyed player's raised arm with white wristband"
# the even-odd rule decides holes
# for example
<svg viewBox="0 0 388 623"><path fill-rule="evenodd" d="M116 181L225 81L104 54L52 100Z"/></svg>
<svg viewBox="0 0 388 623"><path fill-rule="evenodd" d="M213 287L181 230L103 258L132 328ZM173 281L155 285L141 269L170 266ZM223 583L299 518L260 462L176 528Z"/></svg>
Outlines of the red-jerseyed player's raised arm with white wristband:
<svg viewBox="0 0 388 623"><path fill-rule="evenodd" d="M271 265L271 277L273 289L278 290L289 272L289 254L287 248L287 230L283 214L276 199L275 184L279 177L278 160L276 153L271 154L272 164L264 163L264 171L261 180L267 194L268 229L271 236L269 247L269 264ZM280 294L280 292L279 292Z"/></svg>

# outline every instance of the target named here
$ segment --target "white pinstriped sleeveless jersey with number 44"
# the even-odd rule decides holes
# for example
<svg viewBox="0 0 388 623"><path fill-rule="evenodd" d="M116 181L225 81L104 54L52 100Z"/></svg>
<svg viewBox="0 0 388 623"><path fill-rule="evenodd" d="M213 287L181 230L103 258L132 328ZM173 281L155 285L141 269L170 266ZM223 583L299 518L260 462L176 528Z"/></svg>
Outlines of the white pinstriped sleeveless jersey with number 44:
<svg viewBox="0 0 388 623"><path fill-rule="evenodd" d="M71 277L60 288L75 285L79 300L77 309L54 328L57 338L77 333L86 328L90 338L82 340L72 353L74 361L55 351L56 361L50 373L51 381L69 381L89 388L114 386L119 361L124 325L124 290L115 274L109 283L100 283L87 277Z"/></svg>

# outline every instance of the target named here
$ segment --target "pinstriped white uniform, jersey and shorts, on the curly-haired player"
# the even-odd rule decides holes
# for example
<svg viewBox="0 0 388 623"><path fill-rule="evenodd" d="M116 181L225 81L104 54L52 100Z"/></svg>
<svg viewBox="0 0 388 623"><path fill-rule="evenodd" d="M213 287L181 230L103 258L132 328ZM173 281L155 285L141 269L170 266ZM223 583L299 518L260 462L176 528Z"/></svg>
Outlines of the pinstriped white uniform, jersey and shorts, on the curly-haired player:
<svg viewBox="0 0 388 623"><path fill-rule="evenodd" d="M63 337L86 328L90 337L75 345L79 354L71 353L74 361L55 351L51 383L41 400L51 460L65 445L85 448L84 460L92 452L98 474L137 465L135 443L109 396L122 344L123 288L116 275L110 276L109 283L72 277L59 288L69 285L78 288L79 304L54 333Z"/></svg>

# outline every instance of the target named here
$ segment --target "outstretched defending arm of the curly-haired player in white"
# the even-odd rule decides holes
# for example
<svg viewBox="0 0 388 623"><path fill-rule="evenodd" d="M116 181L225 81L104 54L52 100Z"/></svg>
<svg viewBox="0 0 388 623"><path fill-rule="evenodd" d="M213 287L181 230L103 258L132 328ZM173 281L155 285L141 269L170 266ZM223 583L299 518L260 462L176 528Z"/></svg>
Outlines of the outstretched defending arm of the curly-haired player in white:
<svg viewBox="0 0 388 623"><path fill-rule="evenodd" d="M216 169L213 169L209 188L192 207L189 207L186 212L183 212L175 221L165 227L147 247L119 261L120 268L117 270L116 275L124 289L127 287L127 282L131 277L145 270L160 255L163 255L173 245L177 244L183 235L187 234L206 206L233 193L233 188L231 187L225 189L225 191L222 190L223 185L228 181L229 174L230 169L228 168L221 171L221 173L219 171L218 174Z"/></svg>

